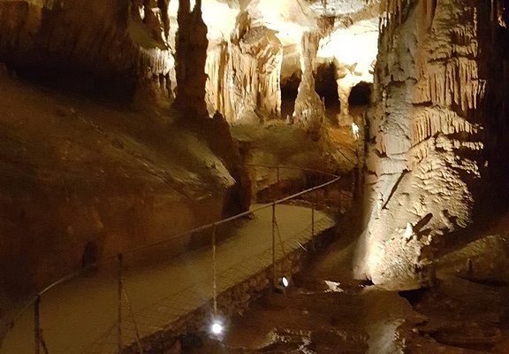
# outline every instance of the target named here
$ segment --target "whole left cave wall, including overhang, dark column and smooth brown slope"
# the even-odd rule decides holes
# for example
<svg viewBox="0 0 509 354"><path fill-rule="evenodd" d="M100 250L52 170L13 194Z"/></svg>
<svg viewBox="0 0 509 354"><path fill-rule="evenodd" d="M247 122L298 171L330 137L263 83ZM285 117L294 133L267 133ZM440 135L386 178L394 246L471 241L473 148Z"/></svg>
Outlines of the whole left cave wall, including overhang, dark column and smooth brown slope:
<svg viewBox="0 0 509 354"><path fill-rule="evenodd" d="M0 63L9 68L0 72L0 289L27 294L248 209L238 147L225 120L206 112L199 3L179 2L174 68L167 2L0 2ZM132 92L127 106L101 105L61 88L46 92L11 69L68 80L67 88L90 80L91 88ZM157 98L171 98L175 80L168 110ZM136 100L153 109L130 110ZM150 256L208 237L172 239Z"/></svg>

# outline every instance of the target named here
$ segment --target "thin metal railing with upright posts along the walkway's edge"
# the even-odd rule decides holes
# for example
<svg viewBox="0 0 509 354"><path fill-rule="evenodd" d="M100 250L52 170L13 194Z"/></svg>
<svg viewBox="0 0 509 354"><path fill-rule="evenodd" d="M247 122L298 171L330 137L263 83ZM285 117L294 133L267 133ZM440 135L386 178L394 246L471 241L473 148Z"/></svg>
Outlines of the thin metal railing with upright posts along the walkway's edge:
<svg viewBox="0 0 509 354"><path fill-rule="evenodd" d="M277 273L276 273L276 262L277 262L277 234L279 232L278 225L277 225L277 214L276 214L276 205L278 204L285 204L288 201L294 200L296 198L299 198L300 196L305 196L312 194L318 190L329 188L330 186L334 185L335 183L338 183L340 181L340 177L337 175L334 175L332 173L323 173L321 171L316 171L312 169L305 169L300 167L292 167L292 166L263 166L263 165L250 165L250 166L256 166L256 167L262 167L262 168L269 168L269 169L275 169L277 170L277 181L280 181L280 171L283 169L294 169L294 170L300 170L300 171L307 171L310 173L320 173L322 176L330 177L330 181L326 181L321 183L318 186L315 186L313 188L305 189L299 193L295 193L292 196L286 196L284 198L281 198L277 201L274 201L269 204L263 204L261 206L257 206L247 212L241 212L237 215L234 215L229 218L221 219L213 223L209 223L207 225L201 226L201 227L194 227L193 229L187 230L185 232L179 233L177 235L171 235L171 237L168 237L164 240L158 241L158 242L152 242L147 245L143 245L139 248L133 249L133 250L127 250L122 253L118 253L117 256L113 256L110 258L103 258L102 260L95 262L92 265L85 266L81 268L79 271L72 273L68 276L65 276L62 279L59 279L58 281L53 282L45 289L42 289L36 296L32 298L32 300L25 305L22 310L19 312L19 314L11 321L9 330L7 331L7 334L4 336L4 339L10 335L10 332L15 325L18 324L19 319L21 319L23 316L27 314L27 311L30 308L33 308L34 310L34 353L35 354L51 354L50 350L48 349L49 346L47 345L47 342L44 340L44 335L42 333L42 321L41 321L41 304L42 304L42 297L49 293L50 290L57 289L58 286L66 284L72 280L75 280L82 276L83 274L87 274L92 270L100 268L100 266L106 265L107 263L110 263L111 261L116 261L117 264L117 271L116 271L116 278L117 278L117 295L116 295L116 302L117 302L117 319L116 319L116 337L117 337L117 352L120 353L125 348L124 343L124 335L123 335L123 328L122 328L122 322L123 322L123 316L125 312L125 307L127 307L127 312L130 316L130 319L133 322L134 325L134 332L135 332L135 345L137 345L138 350L140 353L143 352L143 348L141 345L141 333L138 328L138 325L136 323L136 319L134 319L133 314L133 308L129 301L129 296L127 296L127 291L125 289L124 284L124 259L126 256L133 255L134 253L140 253L142 251L148 250L148 249L154 249L158 246L170 242L171 240L179 239L180 237L190 236L194 235L196 233L201 233L203 231L210 231L211 233L211 240L210 240L210 249L212 253L212 304L213 304L213 312L214 315L217 316L217 296L218 296L218 286L217 286L217 277L218 277L218 271L217 271L217 229L218 227L225 226L226 224L231 223L235 220L244 219L250 215L254 215L256 212L264 211L267 209L271 209L271 231L270 231L270 237L271 237L271 262L272 262L272 279L271 285L274 287L277 283ZM316 199L316 198L315 198ZM311 203L311 231L310 236L311 238L315 236L315 226L316 226L316 219L315 219L315 202ZM285 242L281 239L281 235L279 235L279 244L281 245L283 253L285 250L283 249ZM209 249L209 246L207 246L207 250ZM173 256L175 257L175 256ZM41 351L42 350L42 351ZM99 352L99 351L97 351ZM2 347L0 346L0 353L4 353L2 350ZM18 354L18 353L6 353L6 354Z"/></svg>

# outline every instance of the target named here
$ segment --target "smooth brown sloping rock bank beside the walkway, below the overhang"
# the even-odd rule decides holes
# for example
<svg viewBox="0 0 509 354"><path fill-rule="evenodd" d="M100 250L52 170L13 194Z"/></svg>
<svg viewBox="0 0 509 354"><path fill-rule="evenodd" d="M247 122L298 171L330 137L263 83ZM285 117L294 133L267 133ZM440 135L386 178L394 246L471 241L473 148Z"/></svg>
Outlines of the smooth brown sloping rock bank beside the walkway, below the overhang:
<svg viewBox="0 0 509 354"><path fill-rule="evenodd" d="M41 289L248 207L238 151L216 119L175 125L4 78L0 92L3 291ZM193 241L138 256L168 257Z"/></svg>

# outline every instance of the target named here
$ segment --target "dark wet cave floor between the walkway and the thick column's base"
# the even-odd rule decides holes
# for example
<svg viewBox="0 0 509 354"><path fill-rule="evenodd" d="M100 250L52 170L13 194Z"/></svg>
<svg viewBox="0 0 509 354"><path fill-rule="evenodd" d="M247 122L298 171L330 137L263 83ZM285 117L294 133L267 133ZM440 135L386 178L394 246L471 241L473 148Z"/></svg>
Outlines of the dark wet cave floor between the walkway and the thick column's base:
<svg viewBox="0 0 509 354"><path fill-rule="evenodd" d="M338 238L286 295L232 319L224 338L185 354L509 353L509 284L439 272L429 289L397 292L352 277L355 242ZM460 257L456 263L464 263Z"/></svg>

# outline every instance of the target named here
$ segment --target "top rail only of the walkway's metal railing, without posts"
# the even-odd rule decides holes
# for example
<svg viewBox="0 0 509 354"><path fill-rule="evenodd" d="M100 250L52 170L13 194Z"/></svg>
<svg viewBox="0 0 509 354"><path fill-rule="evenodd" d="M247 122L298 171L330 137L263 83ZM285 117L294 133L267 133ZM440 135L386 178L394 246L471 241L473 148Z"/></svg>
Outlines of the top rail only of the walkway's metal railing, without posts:
<svg viewBox="0 0 509 354"><path fill-rule="evenodd" d="M298 196L302 196L302 195L305 195L305 194L308 194L308 193L311 193L315 190L318 190L318 189L323 189L327 186L330 186L331 184L334 184L336 183L337 181L339 181L341 179L340 176L336 175L336 174L333 174L333 173L325 173L323 171L319 171L319 170L313 170L313 169L310 169L310 168L300 168L300 167L294 167L294 166L267 166L267 165L248 165L247 166L258 166L258 167L265 167L265 168L270 168L270 169L296 169L296 170L300 170L300 171L309 171L309 172L315 172L315 173L322 173L324 175L329 175L329 176L332 176L334 177L333 180L331 181L328 181L328 182L325 182L325 183L322 183L318 186L315 186L313 188L310 188L310 189L305 189L303 191L300 191L298 193L295 193L293 194L292 196L286 196L285 198L282 198L282 199L279 199L277 201L274 201L272 203L269 203L269 204L262 204L261 206L259 207L256 207L255 209L251 209L247 212L240 212L239 214L236 214L236 215L233 215L229 218L226 218L226 219L221 219L221 220L218 220L218 221L215 221L215 222L211 222L207 225L203 225L201 227L194 227L190 230L187 230L185 232L182 232L182 233L179 233L179 234L176 234L176 235L171 235L171 237L168 237L166 239L163 239L161 241L157 241L157 242L152 242L152 243L149 243L149 244L146 244L146 245L143 245L141 247L138 247L136 249L132 249L132 250L126 250L124 252L119 252L119 254L121 255L128 255L128 254L133 254L135 252L138 252L138 251L141 251L141 250L147 250L148 248L152 248L152 247L155 247L157 245L161 245L163 243L166 243L166 242L170 242L172 240L174 240L175 238L179 238L179 237L182 237L182 236L185 236L185 235L190 235L190 234L194 234L194 233L197 233L197 232L201 232L201 231L204 231L210 227L217 227L219 225L224 225L230 221L233 221L233 220L236 220L236 219L241 219L241 218L244 218L250 214L252 214L253 212L259 212L263 209L267 209L267 208L270 208L272 207L273 205L277 205L277 204L282 204L282 203L285 203L286 201L288 200L291 200L293 198L296 198ZM9 329L11 329L12 327L15 326L15 324L19 321L19 319L21 318L21 316L23 316L25 314L25 312L27 312L27 309L30 308L32 305L35 304L36 301L38 301L39 298L41 298L42 295L46 294L49 292L49 290L51 289L54 289L55 287L57 287L57 285L60 285L62 283L65 283L66 281L72 281L72 279L75 279L77 278L78 276L80 276L81 274L83 273L86 273L88 270L91 270L91 269L95 269L95 267L98 267L104 263L106 263L107 261L110 261L114 258L118 258L118 255L113 255L113 256L110 256L110 257L107 257L107 258L103 258L99 261L96 261L95 263L91 264L91 265L88 265L88 266L84 266L82 268L80 268L80 270L74 272L74 273L71 273L69 275L66 275L65 277L63 278L60 278L59 280L57 281L54 281L52 282L51 284L49 284L46 288L42 289L40 292L38 292L33 298L31 301L29 301L25 306L22 307L21 311L15 316L14 319L12 319L10 321L10 323L8 324L8 327Z"/></svg>

